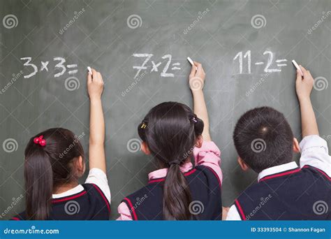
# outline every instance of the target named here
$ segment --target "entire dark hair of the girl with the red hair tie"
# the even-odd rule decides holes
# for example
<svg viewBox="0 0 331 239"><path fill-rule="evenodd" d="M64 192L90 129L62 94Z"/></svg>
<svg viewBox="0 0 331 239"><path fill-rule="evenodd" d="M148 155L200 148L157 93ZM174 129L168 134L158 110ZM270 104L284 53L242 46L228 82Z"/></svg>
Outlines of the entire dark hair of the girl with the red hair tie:
<svg viewBox="0 0 331 239"><path fill-rule="evenodd" d="M44 147L34 143L39 136L46 140ZM53 189L77 180L73 159L84 157L84 150L73 132L54 128L30 138L24 155L27 219L45 220L52 210Z"/></svg>

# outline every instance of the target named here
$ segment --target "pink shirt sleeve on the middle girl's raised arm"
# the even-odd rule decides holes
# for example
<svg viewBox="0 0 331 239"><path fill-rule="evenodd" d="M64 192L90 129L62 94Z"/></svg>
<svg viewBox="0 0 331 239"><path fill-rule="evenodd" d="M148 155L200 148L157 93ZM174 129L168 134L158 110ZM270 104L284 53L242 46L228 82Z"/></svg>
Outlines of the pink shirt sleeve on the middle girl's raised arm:
<svg viewBox="0 0 331 239"><path fill-rule="evenodd" d="M201 147L193 149L193 156L196 166L204 165L212 168L222 183L223 174L221 171L221 151L212 141L203 141Z"/></svg>

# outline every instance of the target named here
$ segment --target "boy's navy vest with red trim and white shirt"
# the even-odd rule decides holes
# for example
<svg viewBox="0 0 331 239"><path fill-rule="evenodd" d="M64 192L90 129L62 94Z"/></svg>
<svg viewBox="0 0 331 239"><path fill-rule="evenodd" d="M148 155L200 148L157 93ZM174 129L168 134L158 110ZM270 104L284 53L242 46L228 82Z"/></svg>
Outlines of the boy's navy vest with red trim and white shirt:
<svg viewBox="0 0 331 239"><path fill-rule="evenodd" d="M293 161L267 168L228 211L227 220L330 220L331 157L326 141L306 136L300 167Z"/></svg>

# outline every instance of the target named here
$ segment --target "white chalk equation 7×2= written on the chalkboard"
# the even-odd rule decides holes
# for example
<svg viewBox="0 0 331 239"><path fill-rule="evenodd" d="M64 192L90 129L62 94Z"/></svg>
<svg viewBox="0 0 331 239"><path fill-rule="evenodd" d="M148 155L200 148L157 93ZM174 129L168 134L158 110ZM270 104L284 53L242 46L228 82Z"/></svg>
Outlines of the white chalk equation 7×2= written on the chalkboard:
<svg viewBox="0 0 331 239"><path fill-rule="evenodd" d="M135 78L138 77L140 74L140 71L144 70L147 71L147 68L150 68L150 73L152 72L159 72L159 67L163 63L162 61L159 61L155 63L154 61L151 61L152 65L147 65L149 63L149 60L153 57L153 54L147 54L147 53L141 53L141 54L133 54L133 57L143 57L145 58L145 61L142 62L140 66L133 66L134 69L138 70L137 73L135 74ZM165 66L163 66L162 71L160 73L161 77L175 77L174 73L170 73L168 71L170 64L171 64L171 71L179 71L180 70L180 63L175 62L171 63L172 61L172 56L170 54L164 55L162 59L165 59L167 62L165 63Z"/></svg>

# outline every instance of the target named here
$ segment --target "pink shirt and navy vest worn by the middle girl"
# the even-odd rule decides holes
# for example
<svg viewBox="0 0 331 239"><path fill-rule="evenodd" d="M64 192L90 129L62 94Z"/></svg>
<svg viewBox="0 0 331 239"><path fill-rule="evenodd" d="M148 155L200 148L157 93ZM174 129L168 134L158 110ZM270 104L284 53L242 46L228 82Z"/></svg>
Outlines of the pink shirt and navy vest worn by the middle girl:
<svg viewBox="0 0 331 239"><path fill-rule="evenodd" d="M195 167L187 162L180 167L189 184L192 219L221 220L221 152L211 141L193 149ZM117 220L163 220L163 182L168 168L149 173L149 182L124 198L118 207Z"/></svg>

